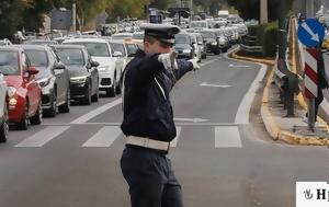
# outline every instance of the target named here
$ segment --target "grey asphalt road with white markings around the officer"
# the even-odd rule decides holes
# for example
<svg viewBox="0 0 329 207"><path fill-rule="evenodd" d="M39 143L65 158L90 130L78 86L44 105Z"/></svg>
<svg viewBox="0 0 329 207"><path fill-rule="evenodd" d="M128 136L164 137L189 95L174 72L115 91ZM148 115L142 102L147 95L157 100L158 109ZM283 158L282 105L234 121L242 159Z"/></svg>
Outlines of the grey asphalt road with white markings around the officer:
<svg viewBox="0 0 329 207"><path fill-rule="evenodd" d="M179 135L169 157L186 207L293 207L296 181L329 181L327 148L271 141L256 102L249 123L249 89L260 71L208 56L174 88ZM11 130L0 145L0 206L128 207L121 122L116 96Z"/></svg>

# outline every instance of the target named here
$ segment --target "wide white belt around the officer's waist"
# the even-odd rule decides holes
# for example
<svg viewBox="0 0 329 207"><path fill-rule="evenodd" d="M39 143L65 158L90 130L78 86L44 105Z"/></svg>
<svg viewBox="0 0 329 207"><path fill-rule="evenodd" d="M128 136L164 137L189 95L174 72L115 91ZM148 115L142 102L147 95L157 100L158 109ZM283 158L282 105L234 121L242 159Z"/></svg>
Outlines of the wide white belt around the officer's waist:
<svg viewBox="0 0 329 207"><path fill-rule="evenodd" d="M158 141L155 139L149 139L145 137L135 137L135 136L128 136L126 138L126 143L133 146L140 146L144 148L156 149L156 150L164 150L164 151L168 151L170 146L170 142L168 141Z"/></svg>

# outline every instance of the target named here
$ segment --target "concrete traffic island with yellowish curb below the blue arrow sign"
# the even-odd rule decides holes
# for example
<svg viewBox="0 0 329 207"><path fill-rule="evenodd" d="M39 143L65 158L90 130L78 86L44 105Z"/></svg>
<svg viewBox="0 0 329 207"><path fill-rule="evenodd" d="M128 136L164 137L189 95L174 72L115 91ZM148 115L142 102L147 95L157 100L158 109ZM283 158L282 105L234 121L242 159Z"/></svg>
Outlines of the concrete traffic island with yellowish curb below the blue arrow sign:
<svg viewBox="0 0 329 207"><path fill-rule="evenodd" d="M265 64L269 67L273 65L273 61L247 58L238 56L236 53L231 56L240 60ZM272 70L263 91L261 104L261 117L271 137L274 140L283 140L291 145L329 146L329 128L324 119L318 117L315 133L309 131L307 123L303 122L306 114L306 103L302 94L295 96L295 116L285 116L286 111L283 108L283 104L280 103L279 89L272 83L273 76L274 71Z"/></svg>

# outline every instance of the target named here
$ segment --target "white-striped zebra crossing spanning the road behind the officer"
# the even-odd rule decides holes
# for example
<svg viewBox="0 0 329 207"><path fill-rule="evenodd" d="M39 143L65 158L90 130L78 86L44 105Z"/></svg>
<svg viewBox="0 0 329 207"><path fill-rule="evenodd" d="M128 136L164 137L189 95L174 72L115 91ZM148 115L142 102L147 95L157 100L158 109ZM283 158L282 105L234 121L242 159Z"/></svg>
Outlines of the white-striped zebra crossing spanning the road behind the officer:
<svg viewBox="0 0 329 207"><path fill-rule="evenodd" d="M16 148L41 148L50 145L65 131L75 130L75 126L46 126L38 133L23 138L15 143ZM238 126L212 126L195 130L212 130L207 135L215 135L211 148L242 148L242 140ZM110 148L115 140L123 136L120 126L101 126L93 135L86 138L79 146L82 148ZM177 137L170 142L171 148L177 148L181 139L184 139L184 126L177 126ZM186 138L188 139L188 138ZM65 141L68 141L66 138Z"/></svg>

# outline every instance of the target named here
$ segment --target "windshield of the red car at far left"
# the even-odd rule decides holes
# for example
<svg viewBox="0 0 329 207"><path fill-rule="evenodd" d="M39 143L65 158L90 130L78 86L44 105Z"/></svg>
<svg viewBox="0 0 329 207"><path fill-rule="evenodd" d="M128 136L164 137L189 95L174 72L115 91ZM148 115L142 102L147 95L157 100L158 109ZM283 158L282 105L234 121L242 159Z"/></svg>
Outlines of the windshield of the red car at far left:
<svg viewBox="0 0 329 207"><path fill-rule="evenodd" d="M2 74L19 74L16 51L0 51L0 71Z"/></svg>

